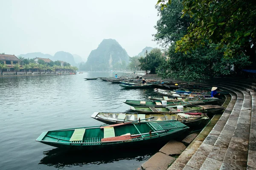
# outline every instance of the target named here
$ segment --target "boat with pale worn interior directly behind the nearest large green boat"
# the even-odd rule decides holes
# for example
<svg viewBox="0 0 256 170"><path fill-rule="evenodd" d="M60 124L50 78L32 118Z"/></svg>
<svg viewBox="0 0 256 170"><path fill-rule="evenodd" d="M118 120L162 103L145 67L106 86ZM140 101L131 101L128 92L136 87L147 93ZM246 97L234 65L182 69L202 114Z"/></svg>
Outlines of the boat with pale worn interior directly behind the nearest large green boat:
<svg viewBox="0 0 256 170"><path fill-rule="evenodd" d="M139 118L141 122L152 122L152 121L166 121L166 120L178 120L179 122L184 123L188 127L197 127L201 124L206 124L209 122L209 117L206 114L186 114L184 113L174 113L174 114L159 114L159 113L133 113L133 112L94 112L91 116L93 119L96 119L100 122L113 125L117 123L125 123L131 121L138 121ZM145 119L145 120L143 120Z"/></svg>

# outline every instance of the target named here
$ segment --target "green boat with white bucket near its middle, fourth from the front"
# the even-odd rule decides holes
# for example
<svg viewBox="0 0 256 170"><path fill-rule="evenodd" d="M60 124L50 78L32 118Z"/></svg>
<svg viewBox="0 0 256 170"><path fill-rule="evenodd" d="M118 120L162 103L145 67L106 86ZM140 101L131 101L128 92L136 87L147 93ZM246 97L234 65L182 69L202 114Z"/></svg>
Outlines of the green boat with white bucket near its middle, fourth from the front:
<svg viewBox="0 0 256 170"><path fill-rule="evenodd" d="M150 106L150 107L166 107L166 106L176 106L176 105L203 105L204 102L203 101L189 101L189 102L185 102L183 100L180 101L173 101L173 102L167 102L167 101L159 101L159 100L155 100L155 101L140 101L140 100L126 100L124 102L127 105L130 106Z"/></svg>

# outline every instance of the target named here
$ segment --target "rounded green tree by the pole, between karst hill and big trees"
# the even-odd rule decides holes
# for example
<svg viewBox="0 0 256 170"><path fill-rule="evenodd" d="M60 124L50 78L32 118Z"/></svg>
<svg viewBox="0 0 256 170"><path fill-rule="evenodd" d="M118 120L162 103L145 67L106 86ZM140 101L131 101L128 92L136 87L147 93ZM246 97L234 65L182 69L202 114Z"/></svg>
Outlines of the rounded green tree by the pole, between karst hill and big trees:
<svg viewBox="0 0 256 170"><path fill-rule="evenodd" d="M160 49L152 49L152 51L145 58L139 59L140 67L143 70L150 70L150 74L156 74L156 69L164 61Z"/></svg>

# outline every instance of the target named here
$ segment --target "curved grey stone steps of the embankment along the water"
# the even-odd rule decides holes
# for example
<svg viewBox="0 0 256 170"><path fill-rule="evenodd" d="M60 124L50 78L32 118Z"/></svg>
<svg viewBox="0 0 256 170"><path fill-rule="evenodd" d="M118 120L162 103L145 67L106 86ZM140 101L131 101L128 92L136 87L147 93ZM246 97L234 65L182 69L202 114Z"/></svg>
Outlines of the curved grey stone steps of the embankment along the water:
<svg viewBox="0 0 256 170"><path fill-rule="evenodd" d="M161 79L156 75L143 78ZM165 79L181 83L183 81ZM215 115L211 123L177 157L163 166L149 159L145 170L256 170L256 80L212 78L195 85L218 87L229 91L231 100L222 115ZM215 123L214 123L215 122ZM163 151L163 148L161 149ZM163 152L157 153L158 158ZM168 156L167 154L165 154ZM152 156L153 158L154 156ZM172 157L173 158L173 157ZM168 160L168 159L167 159ZM161 163L161 162L160 162ZM155 167L145 166L154 164Z"/></svg>

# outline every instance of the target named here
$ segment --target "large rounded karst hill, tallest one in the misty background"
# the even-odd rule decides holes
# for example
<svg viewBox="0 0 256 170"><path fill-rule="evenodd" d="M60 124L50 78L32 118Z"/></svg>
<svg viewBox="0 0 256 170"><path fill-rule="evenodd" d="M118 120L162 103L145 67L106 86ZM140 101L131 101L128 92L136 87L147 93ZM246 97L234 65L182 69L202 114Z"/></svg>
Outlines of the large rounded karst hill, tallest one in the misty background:
<svg viewBox="0 0 256 170"><path fill-rule="evenodd" d="M125 69L129 56L122 46L113 39L104 39L97 49L90 52L80 70Z"/></svg>

